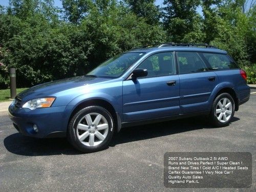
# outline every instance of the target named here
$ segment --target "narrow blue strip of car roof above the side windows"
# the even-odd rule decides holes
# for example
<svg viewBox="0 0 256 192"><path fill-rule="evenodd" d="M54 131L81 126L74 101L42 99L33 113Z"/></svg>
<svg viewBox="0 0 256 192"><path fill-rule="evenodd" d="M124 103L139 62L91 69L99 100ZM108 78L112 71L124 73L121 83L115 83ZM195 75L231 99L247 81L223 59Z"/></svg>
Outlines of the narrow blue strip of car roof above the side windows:
<svg viewBox="0 0 256 192"><path fill-rule="evenodd" d="M217 48L201 48L201 47L187 47L187 46L135 48L130 51L127 51L126 53L132 53L132 52L154 53L154 52L162 52L162 51L195 51L195 52L227 54L226 51L217 49Z"/></svg>

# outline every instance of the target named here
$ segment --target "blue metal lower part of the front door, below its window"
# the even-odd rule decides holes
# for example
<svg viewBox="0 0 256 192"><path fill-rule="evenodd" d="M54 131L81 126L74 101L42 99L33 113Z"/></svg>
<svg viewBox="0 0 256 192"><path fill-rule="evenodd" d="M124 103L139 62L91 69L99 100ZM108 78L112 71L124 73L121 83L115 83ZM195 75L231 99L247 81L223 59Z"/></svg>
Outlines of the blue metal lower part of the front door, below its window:
<svg viewBox="0 0 256 192"><path fill-rule="evenodd" d="M174 80L175 86L167 85ZM178 75L123 81L124 121L178 115L179 81Z"/></svg>

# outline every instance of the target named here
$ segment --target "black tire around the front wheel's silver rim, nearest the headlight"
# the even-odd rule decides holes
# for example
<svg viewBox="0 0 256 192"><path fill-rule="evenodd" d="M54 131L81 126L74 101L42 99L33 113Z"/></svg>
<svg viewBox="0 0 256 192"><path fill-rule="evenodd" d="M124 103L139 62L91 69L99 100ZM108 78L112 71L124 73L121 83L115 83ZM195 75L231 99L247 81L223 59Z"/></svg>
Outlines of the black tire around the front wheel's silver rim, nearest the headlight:
<svg viewBox="0 0 256 192"><path fill-rule="evenodd" d="M78 125L79 121L83 120L83 122L86 122L84 124L87 124L86 126L88 126L89 123L87 123L87 119L85 119L85 116L88 115L88 114L100 114L100 115L102 115L104 117L104 121L108 122L108 132L107 132L107 134L106 134L106 136L105 136L103 141L98 139L98 137L96 136L96 131L97 131L96 130L97 129L96 125L91 126L92 128L87 128L87 129L90 129L91 131L87 130L87 131L83 132L83 133L85 133L85 132L89 132L90 131L90 134L87 133L87 134L89 134L89 136L87 136L87 137L89 137L89 139L90 139L91 134L94 133L94 131L95 131L95 135L93 134L94 135L93 137L98 139L99 140L98 142L101 141L101 143L96 145L96 146L93 146L93 145L92 146L87 146L86 145L87 142L85 141L87 138L84 139L84 141L80 141L78 139L78 137L81 136L81 135L79 135L78 132L81 131L81 130L79 130L77 128L77 125ZM91 118L91 119L92 119L92 121L94 121L93 118ZM88 127L90 127L90 126L88 126ZM98 131L98 132L100 132L100 131ZM81 152L85 152L85 153L91 153L91 152L97 152L97 151L103 150L104 148L108 147L108 145L109 145L109 143L110 143L110 141L111 141L111 139L113 137L113 133L114 133L114 120L113 120L111 114L106 109L102 108L101 106L88 106L88 107L83 108L82 110L78 111L71 118L71 120L69 122L69 125L68 125L67 137L68 137L69 142L77 150L79 150ZM90 144L90 141L88 141L88 144Z"/></svg>

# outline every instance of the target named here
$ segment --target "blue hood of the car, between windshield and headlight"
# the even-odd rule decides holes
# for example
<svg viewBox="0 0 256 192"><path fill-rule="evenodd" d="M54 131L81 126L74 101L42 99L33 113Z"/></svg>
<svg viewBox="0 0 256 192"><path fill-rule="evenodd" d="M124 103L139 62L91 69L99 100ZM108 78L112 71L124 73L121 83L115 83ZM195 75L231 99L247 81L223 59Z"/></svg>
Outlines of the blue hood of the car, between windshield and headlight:
<svg viewBox="0 0 256 192"><path fill-rule="evenodd" d="M51 96L54 93L68 90L71 88L84 86L86 84L97 83L101 81L110 80L108 78L97 78L97 77L87 77L87 76L78 76L67 79L61 79L56 81L51 81L38 86L34 86L28 90L25 90L17 95L19 99L25 97L29 98L39 98L43 96Z"/></svg>

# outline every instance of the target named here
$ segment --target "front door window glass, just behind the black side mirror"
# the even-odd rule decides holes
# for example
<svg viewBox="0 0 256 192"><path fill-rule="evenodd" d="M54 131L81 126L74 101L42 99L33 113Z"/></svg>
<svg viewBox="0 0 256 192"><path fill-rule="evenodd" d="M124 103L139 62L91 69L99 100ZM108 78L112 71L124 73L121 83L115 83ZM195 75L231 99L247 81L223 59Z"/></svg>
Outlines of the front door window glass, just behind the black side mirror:
<svg viewBox="0 0 256 192"><path fill-rule="evenodd" d="M174 53L157 53L147 57L138 69L146 69L147 77L175 74Z"/></svg>

